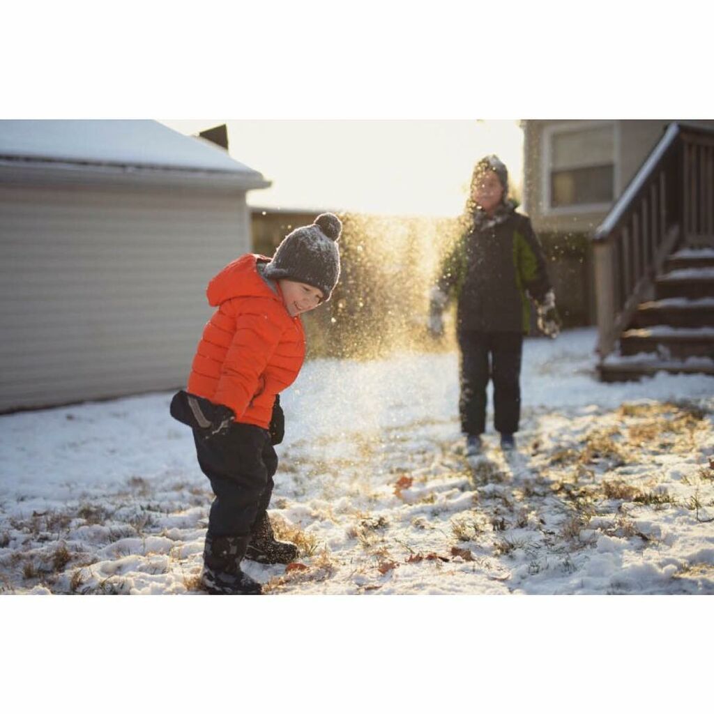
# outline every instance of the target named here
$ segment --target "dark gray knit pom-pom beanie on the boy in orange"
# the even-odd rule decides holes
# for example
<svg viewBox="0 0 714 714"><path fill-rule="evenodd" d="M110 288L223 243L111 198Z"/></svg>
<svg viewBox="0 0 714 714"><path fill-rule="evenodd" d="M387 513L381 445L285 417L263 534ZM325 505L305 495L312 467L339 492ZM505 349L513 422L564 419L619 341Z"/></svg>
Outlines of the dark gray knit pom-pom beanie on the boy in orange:
<svg viewBox="0 0 714 714"><path fill-rule="evenodd" d="M322 291L323 302L328 301L340 277L341 232L342 223L334 213L321 213L310 226L296 228L283 238L263 275L306 283Z"/></svg>

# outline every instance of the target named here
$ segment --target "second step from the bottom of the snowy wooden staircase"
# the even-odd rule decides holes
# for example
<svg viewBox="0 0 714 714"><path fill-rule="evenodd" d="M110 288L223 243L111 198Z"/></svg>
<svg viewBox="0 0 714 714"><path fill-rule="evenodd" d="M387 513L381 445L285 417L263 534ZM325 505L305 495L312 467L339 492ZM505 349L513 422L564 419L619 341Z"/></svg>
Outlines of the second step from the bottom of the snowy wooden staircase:
<svg viewBox="0 0 714 714"><path fill-rule="evenodd" d="M620 353L656 352L668 358L714 357L714 327L678 328L655 325L620 336Z"/></svg>

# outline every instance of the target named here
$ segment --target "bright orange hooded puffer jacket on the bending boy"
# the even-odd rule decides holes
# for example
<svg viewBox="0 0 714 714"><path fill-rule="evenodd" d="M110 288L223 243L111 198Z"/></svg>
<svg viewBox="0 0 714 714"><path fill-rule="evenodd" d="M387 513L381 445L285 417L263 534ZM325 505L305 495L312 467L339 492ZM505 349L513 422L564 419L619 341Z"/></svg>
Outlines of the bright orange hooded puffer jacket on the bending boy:
<svg viewBox="0 0 714 714"><path fill-rule="evenodd" d="M268 262L248 253L208 283L208 303L218 310L203 328L186 387L264 429L276 394L295 381L305 359L301 319L291 318L258 274L258 263Z"/></svg>

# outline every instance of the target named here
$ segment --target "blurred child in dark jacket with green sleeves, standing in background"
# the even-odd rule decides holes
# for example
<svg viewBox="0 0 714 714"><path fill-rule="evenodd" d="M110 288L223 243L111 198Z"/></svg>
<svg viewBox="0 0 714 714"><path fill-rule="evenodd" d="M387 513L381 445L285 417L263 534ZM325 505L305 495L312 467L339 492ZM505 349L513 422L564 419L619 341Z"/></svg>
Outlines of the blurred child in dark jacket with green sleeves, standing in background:
<svg viewBox="0 0 714 714"><path fill-rule="evenodd" d="M473 171L464 229L431 291L429 326L436 335L443 333L441 313L450 293L458 301L459 412L467 456L481 451L489 378L493 378L494 422L501 433L501 448L516 446L523 334L531 324L529 296L538 309L538 328L553 338L560 328L543 249L528 216L516 213L507 196L506 166L498 156L484 157Z"/></svg>

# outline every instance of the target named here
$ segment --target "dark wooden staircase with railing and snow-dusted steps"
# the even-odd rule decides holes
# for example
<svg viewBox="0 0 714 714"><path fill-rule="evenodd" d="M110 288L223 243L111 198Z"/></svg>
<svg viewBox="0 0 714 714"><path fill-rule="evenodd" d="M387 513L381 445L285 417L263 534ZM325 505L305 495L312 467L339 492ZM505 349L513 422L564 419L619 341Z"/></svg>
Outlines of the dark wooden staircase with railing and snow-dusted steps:
<svg viewBox="0 0 714 714"><path fill-rule="evenodd" d="M600 378L714 375L714 131L670 125L594 243Z"/></svg>

